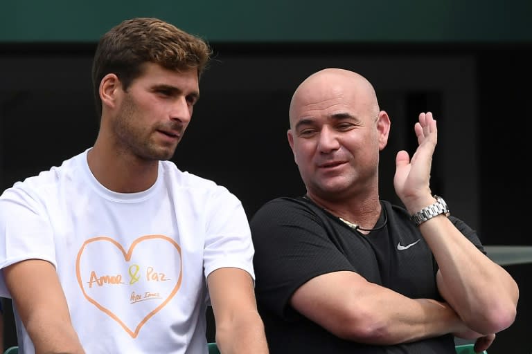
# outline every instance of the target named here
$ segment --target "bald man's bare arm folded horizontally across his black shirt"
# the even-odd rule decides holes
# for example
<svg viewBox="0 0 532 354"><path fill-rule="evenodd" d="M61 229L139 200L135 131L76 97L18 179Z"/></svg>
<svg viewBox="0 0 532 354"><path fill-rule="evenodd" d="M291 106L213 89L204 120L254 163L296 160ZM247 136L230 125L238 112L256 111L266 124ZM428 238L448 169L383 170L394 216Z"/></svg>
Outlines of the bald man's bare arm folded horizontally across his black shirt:
<svg viewBox="0 0 532 354"><path fill-rule="evenodd" d="M447 304L409 299L355 272L315 277L294 292L291 304L337 337L367 344L414 342L465 330Z"/></svg>

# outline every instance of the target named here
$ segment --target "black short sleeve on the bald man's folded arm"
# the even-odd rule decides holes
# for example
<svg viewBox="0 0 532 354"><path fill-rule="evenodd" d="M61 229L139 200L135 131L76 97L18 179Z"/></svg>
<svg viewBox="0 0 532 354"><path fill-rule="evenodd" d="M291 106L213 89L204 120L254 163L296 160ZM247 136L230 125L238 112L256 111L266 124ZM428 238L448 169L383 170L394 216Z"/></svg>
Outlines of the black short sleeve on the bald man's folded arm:
<svg viewBox="0 0 532 354"><path fill-rule="evenodd" d="M256 296L260 306L290 317L290 298L303 283L353 265L328 236L328 225L305 203L278 198L251 218Z"/></svg>

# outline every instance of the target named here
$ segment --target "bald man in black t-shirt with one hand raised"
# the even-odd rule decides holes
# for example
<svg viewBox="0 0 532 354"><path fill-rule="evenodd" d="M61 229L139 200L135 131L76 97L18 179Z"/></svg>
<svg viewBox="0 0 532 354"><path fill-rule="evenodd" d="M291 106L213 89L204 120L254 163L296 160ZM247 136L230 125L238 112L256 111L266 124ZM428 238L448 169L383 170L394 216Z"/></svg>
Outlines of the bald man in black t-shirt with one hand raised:
<svg viewBox="0 0 532 354"><path fill-rule="evenodd" d="M517 284L429 187L432 113L419 115L414 155L396 156L404 207L380 200L390 126L352 71L327 68L296 89L287 138L306 194L251 220L270 353L455 353L455 336L481 351L513 323Z"/></svg>

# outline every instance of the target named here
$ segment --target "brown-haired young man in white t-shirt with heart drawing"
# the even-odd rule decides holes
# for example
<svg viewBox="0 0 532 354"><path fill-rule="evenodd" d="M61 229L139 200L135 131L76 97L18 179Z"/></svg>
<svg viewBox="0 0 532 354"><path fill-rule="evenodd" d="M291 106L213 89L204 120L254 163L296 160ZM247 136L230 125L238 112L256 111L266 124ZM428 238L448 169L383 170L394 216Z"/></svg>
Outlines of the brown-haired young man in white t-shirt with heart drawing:
<svg viewBox="0 0 532 354"><path fill-rule="evenodd" d="M159 19L100 39L94 147L0 197L0 296L21 353L267 353L249 225L224 187L169 161L211 51Z"/></svg>

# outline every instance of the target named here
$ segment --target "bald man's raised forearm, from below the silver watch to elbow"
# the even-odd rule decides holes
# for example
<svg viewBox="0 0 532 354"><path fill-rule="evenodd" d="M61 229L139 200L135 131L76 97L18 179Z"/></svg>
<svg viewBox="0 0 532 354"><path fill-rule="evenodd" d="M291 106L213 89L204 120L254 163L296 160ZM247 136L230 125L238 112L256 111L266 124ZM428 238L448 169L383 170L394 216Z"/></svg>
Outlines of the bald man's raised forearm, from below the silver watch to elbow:
<svg viewBox="0 0 532 354"><path fill-rule="evenodd" d="M465 324L484 334L510 326L519 296L510 274L444 216L423 223L420 230L438 262L438 289Z"/></svg>

